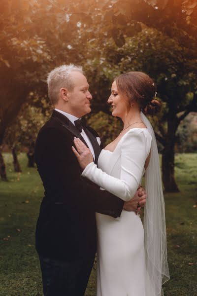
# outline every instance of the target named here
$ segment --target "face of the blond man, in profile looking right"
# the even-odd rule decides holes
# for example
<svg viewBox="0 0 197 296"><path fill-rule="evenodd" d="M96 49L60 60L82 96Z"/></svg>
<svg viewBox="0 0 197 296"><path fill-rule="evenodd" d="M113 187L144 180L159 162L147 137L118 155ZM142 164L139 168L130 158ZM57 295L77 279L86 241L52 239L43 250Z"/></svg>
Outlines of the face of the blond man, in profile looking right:
<svg viewBox="0 0 197 296"><path fill-rule="evenodd" d="M92 100L92 95L89 92L88 81L83 74L73 71L70 74L70 78L73 81L74 89L67 92L69 97L69 110L72 115L80 118L90 113L90 100Z"/></svg>

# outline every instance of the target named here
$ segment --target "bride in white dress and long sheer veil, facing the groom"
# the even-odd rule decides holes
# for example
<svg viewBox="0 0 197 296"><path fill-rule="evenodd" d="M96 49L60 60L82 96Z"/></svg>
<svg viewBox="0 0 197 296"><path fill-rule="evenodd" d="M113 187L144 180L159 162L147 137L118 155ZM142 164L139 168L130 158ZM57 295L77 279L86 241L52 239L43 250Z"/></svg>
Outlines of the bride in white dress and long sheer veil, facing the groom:
<svg viewBox="0 0 197 296"><path fill-rule="evenodd" d="M74 139L77 150L72 149L82 176L125 201L134 195L145 171L144 228L134 212L123 210L116 219L96 214L97 296L161 296L162 284L169 279L159 156L153 128L144 115L160 110L156 94L147 74L129 72L115 78L107 102L124 127L101 150L98 167L90 149Z"/></svg>

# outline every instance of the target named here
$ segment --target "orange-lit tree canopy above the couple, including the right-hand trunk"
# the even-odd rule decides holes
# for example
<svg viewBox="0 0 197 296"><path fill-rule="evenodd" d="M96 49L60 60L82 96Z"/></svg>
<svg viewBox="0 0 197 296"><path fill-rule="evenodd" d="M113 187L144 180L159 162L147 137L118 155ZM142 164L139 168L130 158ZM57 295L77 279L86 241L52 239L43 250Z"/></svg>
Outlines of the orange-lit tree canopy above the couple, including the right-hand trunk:
<svg viewBox="0 0 197 296"><path fill-rule="evenodd" d="M164 103L154 118L164 185L177 190L175 135L197 110L197 0L1 0L0 28L0 145L24 102L47 110L45 79L55 66L83 65L93 112L106 113L114 77L144 71Z"/></svg>

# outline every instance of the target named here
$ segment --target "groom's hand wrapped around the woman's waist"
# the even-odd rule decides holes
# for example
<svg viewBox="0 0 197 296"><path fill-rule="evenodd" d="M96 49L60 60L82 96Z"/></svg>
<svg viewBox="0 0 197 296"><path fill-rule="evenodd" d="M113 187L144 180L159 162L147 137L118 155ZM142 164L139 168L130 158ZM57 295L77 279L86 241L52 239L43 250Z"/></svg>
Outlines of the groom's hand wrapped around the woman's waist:
<svg viewBox="0 0 197 296"><path fill-rule="evenodd" d="M125 201L123 209L126 211L139 212L141 207L146 204L146 192L143 187L138 187L135 195L129 200Z"/></svg>

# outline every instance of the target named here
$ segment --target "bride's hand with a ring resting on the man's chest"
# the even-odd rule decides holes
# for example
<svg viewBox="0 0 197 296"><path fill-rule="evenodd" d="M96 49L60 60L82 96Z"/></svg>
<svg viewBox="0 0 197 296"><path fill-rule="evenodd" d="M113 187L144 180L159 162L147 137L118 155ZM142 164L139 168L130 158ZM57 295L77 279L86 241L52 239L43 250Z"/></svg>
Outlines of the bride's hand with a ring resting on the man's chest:
<svg viewBox="0 0 197 296"><path fill-rule="evenodd" d="M77 150L72 146L72 151L74 152L80 167L84 170L89 163L94 161L92 153L79 138L74 137L74 145Z"/></svg>

